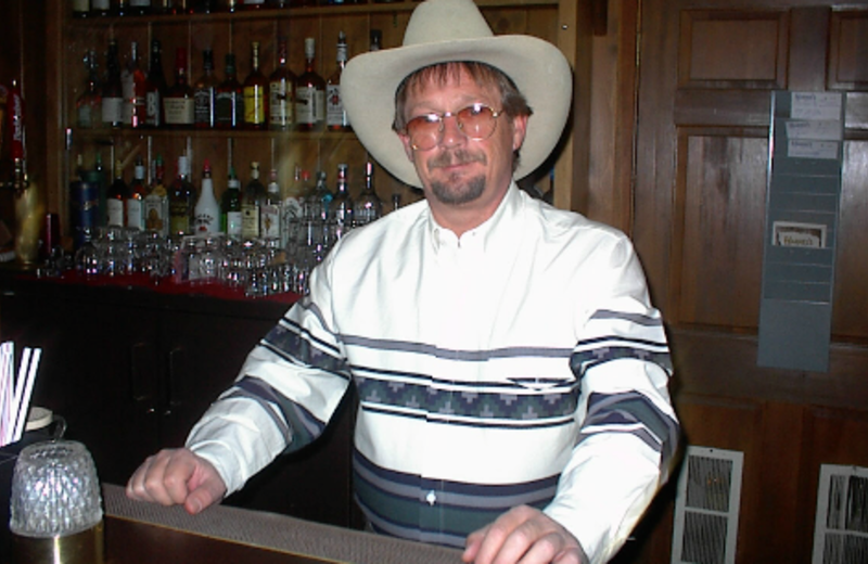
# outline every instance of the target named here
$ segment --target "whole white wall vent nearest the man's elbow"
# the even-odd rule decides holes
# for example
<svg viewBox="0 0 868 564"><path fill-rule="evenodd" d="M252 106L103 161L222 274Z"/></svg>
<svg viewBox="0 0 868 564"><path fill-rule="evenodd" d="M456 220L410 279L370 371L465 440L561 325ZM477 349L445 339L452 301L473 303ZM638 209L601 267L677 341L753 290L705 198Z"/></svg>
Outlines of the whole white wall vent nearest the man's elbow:
<svg viewBox="0 0 868 564"><path fill-rule="evenodd" d="M744 454L687 447L678 493L672 564L735 564Z"/></svg>

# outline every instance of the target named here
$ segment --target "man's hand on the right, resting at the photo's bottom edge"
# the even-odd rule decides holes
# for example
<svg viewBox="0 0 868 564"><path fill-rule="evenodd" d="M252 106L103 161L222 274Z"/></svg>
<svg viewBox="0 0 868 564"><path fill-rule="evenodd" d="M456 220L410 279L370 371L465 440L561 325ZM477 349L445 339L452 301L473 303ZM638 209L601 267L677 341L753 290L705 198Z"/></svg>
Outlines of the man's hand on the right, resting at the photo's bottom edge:
<svg viewBox="0 0 868 564"><path fill-rule="evenodd" d="M541 511L519 505L471 533L462 560L473 564L583 564L578 540Z"/></svg>

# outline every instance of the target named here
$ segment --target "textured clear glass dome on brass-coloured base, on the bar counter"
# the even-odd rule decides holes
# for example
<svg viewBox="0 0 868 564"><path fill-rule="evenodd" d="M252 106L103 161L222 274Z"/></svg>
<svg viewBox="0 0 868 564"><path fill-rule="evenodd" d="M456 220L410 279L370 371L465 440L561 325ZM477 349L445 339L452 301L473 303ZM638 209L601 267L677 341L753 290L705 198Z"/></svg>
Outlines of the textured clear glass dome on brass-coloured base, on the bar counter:
<svg viewBox="0 0 868 564"><path fill-rule="evenodd" d="M82 444L47 440L22 449L9 528L17 564L103 564L100 484Z"/></svg>

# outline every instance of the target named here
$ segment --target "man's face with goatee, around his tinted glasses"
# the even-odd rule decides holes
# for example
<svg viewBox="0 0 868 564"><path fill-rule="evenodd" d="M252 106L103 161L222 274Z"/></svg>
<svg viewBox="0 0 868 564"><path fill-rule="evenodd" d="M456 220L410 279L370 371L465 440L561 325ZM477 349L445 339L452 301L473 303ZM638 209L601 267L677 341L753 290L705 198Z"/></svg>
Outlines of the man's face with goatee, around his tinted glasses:
<svg viewBox="0 0 868 564"><path fill-rule="evenodd" d="M497 88L480 87L462 69L444 85L432 80L409 91L405 117L409 121L426 114L455 114L474 103L495 112L502 110ZM401 134L407 156L416 165L435 214L460 209L478 211L483 221L487 219L509 188L513 151L524 140L526 123L526 117L501 114L489 138L473 140L461 131L456 117L446 117L439 143L427 151L413 150L409 137Z"/></svg>

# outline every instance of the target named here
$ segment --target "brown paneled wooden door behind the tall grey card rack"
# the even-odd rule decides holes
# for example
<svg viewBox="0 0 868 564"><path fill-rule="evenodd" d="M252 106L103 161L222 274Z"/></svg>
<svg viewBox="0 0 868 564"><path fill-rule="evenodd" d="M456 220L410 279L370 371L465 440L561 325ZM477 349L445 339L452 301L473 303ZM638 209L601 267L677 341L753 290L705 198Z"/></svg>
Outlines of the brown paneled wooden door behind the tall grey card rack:
<svg viewBox="0 0 868 564"><path fill-rule="evenodd" d="M745 452L737 561L806 563L822 445L834 439L854 452L848 463L868 465L847 446L858 437L804 427L814 406L868 406L868 2L646 0L639 10L630 234L667 321L676 408L688 440ZM756 366L775 90L846 94L822 374ZM726 401L755 411L722 421L715 406Z"/></svg>

